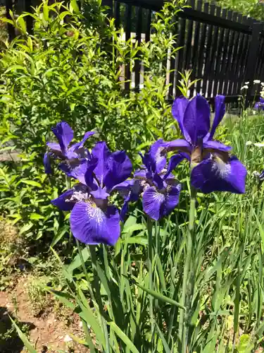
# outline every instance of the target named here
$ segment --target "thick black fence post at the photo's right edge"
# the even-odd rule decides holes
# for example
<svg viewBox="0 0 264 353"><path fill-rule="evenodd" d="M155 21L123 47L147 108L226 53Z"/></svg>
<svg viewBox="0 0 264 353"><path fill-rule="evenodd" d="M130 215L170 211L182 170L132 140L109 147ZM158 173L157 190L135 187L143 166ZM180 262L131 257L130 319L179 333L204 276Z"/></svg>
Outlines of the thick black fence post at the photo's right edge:
<svg viewBox="0 0 264 353"><path fill-rule="evenodd" d="M246 62L246 71L245 71L245 80L244 80L244 82L249 82L249 88L246 94L246 107L249 107L249 102L251 101L253 80L255 79L256 62L258 59L258 49L260 44L260 32L262 29L263 29L263 23L259 23L259 22L253 23L251 43L249 46L249 56Z"/></svg>

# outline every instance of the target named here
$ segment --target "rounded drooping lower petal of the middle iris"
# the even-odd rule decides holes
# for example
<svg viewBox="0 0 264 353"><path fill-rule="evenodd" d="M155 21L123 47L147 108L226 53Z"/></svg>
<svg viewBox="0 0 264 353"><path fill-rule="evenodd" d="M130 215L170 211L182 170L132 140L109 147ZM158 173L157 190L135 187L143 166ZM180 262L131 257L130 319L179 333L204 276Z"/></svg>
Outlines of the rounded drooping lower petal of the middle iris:
<svg viewBox="0 0 264 353"><path fill-rule="evenodd" d="M143 209L153 220L169 215L179 203L180 184L168 186L162 193L153 186L143 193Z"/></svg>

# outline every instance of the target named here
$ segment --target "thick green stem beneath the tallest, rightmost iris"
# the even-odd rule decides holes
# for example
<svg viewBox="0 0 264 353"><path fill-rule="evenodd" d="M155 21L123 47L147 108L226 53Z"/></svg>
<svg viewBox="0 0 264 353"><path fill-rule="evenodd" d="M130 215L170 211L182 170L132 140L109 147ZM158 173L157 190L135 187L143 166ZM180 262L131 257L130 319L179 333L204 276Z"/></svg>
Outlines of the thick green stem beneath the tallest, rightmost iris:
<svg viewBox="0 0 264 353"><path fill-rule="evenodd" d="M186 258L184 263L183 282L182 282L182 297L180 304L186 306L186 311L180 310L180 322L179 322L179 337L181 338L181 352L187 352L187 328L189 309L191 304L191 280L194 280L190 275L190 263L192 253L192 239L194 236L194 224L195 224L195 205L196 205L196 190L191 187L190 197L190 208L189 208L189 228L186 239Z"/></svg>

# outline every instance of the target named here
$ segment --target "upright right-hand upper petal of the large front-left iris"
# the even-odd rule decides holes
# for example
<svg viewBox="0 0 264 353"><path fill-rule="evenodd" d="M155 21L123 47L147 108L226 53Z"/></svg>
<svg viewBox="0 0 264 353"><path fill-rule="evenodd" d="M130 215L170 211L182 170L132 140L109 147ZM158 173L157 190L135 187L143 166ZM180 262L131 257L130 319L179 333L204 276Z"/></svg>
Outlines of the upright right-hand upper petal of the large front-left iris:
<svg viewBox="0 0 264 353"><path fill-rule="evenodd" d="M122 183L132 172L132 163L125 151L111 153L107 161L107 172L103 178L103 185L110 192L113 186Z"/></svg>

